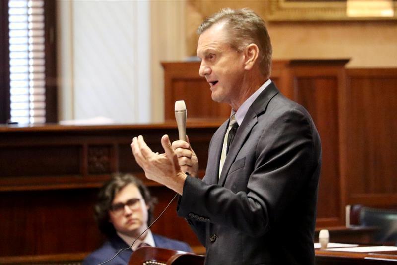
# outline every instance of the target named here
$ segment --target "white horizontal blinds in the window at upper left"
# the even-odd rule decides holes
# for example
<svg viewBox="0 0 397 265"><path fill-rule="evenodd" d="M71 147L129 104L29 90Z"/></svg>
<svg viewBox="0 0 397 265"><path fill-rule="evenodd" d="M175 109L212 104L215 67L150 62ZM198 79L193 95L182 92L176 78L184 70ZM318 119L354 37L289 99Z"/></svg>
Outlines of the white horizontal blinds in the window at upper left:
<svg viewBox="0 0 397 265"><path fill-rule="evenodd" d="M46 122L44 0L8 0L11 122Z"/></svg>

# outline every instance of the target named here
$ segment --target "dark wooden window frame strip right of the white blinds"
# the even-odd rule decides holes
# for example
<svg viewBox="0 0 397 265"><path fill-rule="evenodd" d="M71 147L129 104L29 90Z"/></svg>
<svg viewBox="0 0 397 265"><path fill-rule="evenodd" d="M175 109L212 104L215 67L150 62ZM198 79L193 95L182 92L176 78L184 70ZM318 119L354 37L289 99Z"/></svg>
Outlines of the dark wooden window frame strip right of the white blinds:
<svg viewBox="0 0 397 265"><path fill-rule="evenodd" d="M58 122L56 4L54 0L44 1L47 123Z"/></svg>

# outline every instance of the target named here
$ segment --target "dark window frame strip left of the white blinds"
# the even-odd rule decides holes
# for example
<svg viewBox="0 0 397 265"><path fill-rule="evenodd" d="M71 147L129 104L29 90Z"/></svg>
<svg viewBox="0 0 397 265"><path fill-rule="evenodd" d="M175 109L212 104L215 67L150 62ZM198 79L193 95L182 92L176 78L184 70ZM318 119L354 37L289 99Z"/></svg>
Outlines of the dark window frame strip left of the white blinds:
<svg viewBox="0 0 397 265"><path fill-rule="evenodd" d="M10 118L8 0L0 1L0 124Z"/></svg>

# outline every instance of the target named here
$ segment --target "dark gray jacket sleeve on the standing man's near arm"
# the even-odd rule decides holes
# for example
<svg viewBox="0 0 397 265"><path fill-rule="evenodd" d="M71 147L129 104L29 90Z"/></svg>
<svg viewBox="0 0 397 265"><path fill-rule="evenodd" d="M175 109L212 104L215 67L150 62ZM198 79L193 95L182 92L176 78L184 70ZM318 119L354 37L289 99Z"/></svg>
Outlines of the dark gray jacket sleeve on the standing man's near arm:
<svg viewBox="0 0 397 265"><path fill-rule="evenodd" d="M238 177L248 178L246 190L235 193L188 177L180 200L180 216L197 215L259 237L283 215L316 169L313 125L305 113L293 109L257 126L262 126L259 139L248 138L255 141L253 161L238 173ZM193 223L200 223L195 227L202 229L202 222Z"/></svg>

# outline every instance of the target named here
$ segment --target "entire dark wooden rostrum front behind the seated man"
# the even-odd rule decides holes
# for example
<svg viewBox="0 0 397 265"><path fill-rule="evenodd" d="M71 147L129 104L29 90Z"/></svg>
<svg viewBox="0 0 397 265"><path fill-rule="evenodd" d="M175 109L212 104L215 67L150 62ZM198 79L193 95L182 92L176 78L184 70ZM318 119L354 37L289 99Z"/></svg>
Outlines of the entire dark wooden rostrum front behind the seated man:
<svg viewBox="0 0 397 265"><path fill-rule="evenodd" d="M187 133L203 176L212 134L220 121L188 121ZM103 241L93 217L98 188L112 172L140 177L158 198L155 216L175 193L144 178L133 159L132 137L153 151L177 139L176 124L114 126L0 126L0 256L90 252ZM152 226L154 233L200 246L175 200Z"/></svg>

